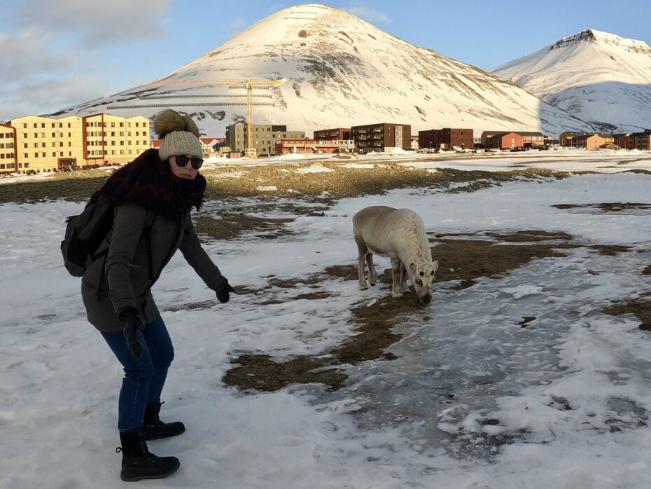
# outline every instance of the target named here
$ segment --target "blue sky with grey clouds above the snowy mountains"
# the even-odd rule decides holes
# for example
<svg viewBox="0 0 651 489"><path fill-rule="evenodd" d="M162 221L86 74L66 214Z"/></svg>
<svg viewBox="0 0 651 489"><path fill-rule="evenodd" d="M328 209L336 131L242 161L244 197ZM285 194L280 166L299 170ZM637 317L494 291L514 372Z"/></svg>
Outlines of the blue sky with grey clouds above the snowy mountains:
<svg viewBox="0 0 651 489"><path fill-rule="evenodd" d="M0 120L150 81L297 1L3 0ZM583 29L651 44L651 0L330 1L410 43L491 69Z"/></svg>

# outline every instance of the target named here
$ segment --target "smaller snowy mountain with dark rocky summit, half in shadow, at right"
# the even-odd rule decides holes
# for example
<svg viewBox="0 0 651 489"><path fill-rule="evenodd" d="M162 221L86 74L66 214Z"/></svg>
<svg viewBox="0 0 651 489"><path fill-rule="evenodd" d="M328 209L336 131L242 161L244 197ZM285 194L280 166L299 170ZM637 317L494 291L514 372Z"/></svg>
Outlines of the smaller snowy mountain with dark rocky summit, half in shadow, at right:
<svg viewBox="0 0 651 489"><path fill-rule="evenodd" d="M587 29L491 72L605 130L651 128L651 47L643 41Z"/></svg>

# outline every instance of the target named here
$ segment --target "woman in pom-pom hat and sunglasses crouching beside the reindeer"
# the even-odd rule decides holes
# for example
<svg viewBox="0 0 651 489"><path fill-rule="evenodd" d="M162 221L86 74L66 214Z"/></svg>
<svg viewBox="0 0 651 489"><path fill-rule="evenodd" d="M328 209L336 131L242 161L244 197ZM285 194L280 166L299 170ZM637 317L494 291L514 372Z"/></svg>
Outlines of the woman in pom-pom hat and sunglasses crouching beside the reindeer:
<svg viewBox="0 0 651 489"><path fill-rule="evenodd" d="M234 292L201 247L190 220L200 209L206 179L199 129L189 116L162 111L154 120L160 149L148 149L118 170L100 191L116 205L111 233L85 270L81 294L88 321L123 365L118 430L124 481L162 478L179 469L176 457L157 457L146 441L176 436L181 422L160 421L160 393L174 348L151 295L177 249L218 301ZM96 256L97 256L96 255Z"/></svg>

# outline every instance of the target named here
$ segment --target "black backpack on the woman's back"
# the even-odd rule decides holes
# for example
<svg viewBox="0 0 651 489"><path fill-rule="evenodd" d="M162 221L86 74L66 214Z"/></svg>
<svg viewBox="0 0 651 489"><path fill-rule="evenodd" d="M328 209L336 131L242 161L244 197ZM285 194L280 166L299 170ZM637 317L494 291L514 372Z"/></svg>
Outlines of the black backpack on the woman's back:
<svg viewBox="0 0 651 489"><path fill-rule="evenodd" d="M114 212L115 205L97 191L81 214L66 218L66 234L61 242L61 252L63 264L73 277L82 277L90 263L109 252L106 247L95 254L113 227Z"/></svg>

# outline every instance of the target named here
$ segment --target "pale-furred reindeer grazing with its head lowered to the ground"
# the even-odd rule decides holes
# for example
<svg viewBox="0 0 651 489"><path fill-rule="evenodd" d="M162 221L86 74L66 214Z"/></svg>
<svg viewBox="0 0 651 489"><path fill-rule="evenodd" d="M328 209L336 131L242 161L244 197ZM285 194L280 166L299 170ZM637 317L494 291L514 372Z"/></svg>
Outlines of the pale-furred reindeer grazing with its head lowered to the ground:
<svg viewBox="0 0 651 489"><path fill-rule="evenodd" d="M432 282L438 260L432 261L423 220L411 209L384 205L365 207L353 216L353 234L358 248L359 289L367 289L365 264L371 285L377 282L373 254L391 259L391 296L402 297L411 280L422 303L432 298Z"/></svg>

